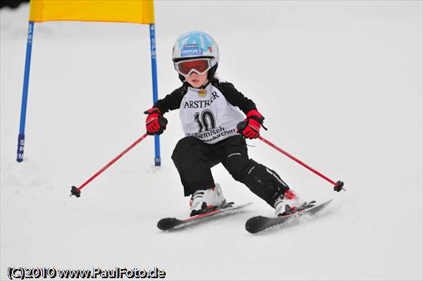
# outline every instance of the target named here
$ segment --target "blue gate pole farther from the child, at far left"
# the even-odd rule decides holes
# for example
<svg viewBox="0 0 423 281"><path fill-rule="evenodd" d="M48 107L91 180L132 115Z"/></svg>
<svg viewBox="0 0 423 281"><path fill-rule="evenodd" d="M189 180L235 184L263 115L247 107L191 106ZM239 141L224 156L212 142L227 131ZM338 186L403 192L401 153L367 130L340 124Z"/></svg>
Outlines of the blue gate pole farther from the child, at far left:
<svg viewBox="0 0 423 281"><path fill-rule="evenodd" d="M26 108L28 98L28 85L30 82L30 66L31 66L31 52L32 52L32 35L34 34L34 22L28 23L28 34L27 34L27 51L25 58L25 74L23 77L23 91L22 91L22 104L20 106L20 125L18 135L18 156L16 161L23 161L23 149L25 146L25 120L26 120Z"/></svg>

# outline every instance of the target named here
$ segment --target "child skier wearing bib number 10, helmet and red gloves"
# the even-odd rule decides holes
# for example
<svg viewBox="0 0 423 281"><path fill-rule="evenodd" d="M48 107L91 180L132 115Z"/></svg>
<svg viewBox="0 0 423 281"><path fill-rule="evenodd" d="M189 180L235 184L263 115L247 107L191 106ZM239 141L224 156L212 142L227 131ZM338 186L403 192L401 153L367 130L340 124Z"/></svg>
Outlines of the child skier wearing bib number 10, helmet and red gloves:
<svg viewBox="0 0 423 281"><path fill-rule="evenodd" d="M183 85L145 111L146 127L149 135L160 135L166 129L164 113L179 109L185 137L176 144L172 159L185 196L191 196L190 216L226 203L211 173L218 163L275 208L276 216L304 208L307 203L274 170L248 157L244 138L259 137L264 117L251 99L214 75L219 62L214 39L200 31L180 35L172 60ZM246 126L238 130L241 122Z"/></svg>

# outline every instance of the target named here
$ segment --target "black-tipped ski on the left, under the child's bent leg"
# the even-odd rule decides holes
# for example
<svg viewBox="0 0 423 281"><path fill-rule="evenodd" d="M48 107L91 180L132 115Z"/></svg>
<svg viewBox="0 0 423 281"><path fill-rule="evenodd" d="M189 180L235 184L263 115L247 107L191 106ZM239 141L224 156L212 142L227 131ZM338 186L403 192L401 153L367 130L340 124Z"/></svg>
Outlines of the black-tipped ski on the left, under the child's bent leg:
<svg viewBox="0 0 423 281"><path fill-rule="evenodd" d="M195 225L197 223L202 223L211 218L235 214L237 213L236 211L239 211L240 209L245 208L246 206L250 206L251 204L252 203L250 202L243 205L235 205L233 202L229 202L223 206L220 206L219 208L213 208L211 210L208 210L207 213L201 213L199 215L192 216L190 218L185 218L185 219L162 218L161 220L159 220L159 223L157 223L157 227L159 227L160 230L180 229L188 225Z"/></svg>

